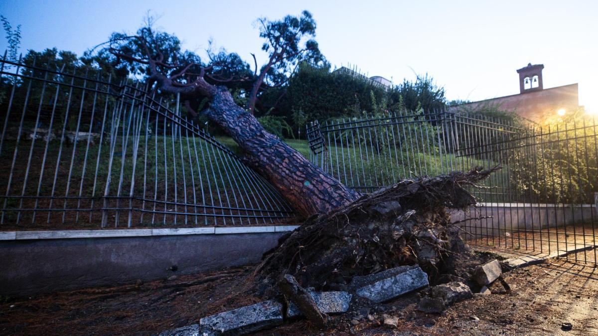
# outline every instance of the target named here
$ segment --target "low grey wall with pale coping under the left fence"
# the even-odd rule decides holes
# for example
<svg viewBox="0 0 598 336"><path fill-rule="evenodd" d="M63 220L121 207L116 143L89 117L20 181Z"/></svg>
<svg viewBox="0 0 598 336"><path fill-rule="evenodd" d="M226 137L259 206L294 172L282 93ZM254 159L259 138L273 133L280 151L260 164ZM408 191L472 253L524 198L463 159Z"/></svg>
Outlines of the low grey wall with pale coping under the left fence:
<svg viewBox="0 0 598 336"><path fill-rule="evenodd" d="M294 228L4 232L0 295L114 286L254 264Z"/></svg>

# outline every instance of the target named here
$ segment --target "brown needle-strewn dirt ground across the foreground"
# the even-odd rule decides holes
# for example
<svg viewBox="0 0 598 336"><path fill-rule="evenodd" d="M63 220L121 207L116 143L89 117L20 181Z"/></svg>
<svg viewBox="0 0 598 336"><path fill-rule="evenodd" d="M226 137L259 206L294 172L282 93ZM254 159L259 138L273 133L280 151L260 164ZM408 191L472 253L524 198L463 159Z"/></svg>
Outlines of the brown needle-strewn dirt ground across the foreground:
<svg viewBox="0 0 598 336"><path fill-rule="evenodd" d="M135 285L1 298L0 334L149 335L189 325L200 317L258 302L239 295L252 267L194 274ZM300 320L261 335L598 335L598 269L555 260L505 274L511 292L475 295L442 314L414 311L417 294L374 307L369 314L333 317L317 330ZM502 293L502 294L501 294ZM379 326L382 314L398 328ZM353 323L351 323L353 322ZM356 323L357 322L357 323ZM563 331L563 322L572 330Z"/></svg>

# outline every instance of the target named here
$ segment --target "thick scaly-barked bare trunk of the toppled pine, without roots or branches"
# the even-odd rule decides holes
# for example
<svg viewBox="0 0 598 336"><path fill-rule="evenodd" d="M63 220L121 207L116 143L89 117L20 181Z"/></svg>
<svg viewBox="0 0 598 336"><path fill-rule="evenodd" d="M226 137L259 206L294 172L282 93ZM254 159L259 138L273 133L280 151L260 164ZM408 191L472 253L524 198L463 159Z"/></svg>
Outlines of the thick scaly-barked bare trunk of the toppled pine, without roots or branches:
<svg viewBox="0 0 598 336"><path fill-rule="evenodd" d="M251 112L234 103L226 88L219 87L212 97L208 118L239 144L245 162L270 181L299 215L327 213L361 196L267 132Z"/></svg>

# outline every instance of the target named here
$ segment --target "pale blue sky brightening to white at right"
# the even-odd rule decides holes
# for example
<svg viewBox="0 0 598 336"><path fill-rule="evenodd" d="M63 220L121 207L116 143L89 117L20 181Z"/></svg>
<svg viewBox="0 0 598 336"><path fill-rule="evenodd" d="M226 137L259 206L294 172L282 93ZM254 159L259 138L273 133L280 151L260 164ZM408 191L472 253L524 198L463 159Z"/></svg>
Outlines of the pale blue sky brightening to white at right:
<svg viewBox="0 0 598 336"><path fill-rule="evenodd" d="M190 50L203 54L213 38L246 60L257 53L258 63L266 57L255 19L309 10L332 65L394 83L428 72L449 99L518 93L515 69L543 63L544 87L579 83L581 105L598 112L596 1L0 0L0 14L22 25L23 51L81 54L113 31L135 31L148 10Z"/></svg>

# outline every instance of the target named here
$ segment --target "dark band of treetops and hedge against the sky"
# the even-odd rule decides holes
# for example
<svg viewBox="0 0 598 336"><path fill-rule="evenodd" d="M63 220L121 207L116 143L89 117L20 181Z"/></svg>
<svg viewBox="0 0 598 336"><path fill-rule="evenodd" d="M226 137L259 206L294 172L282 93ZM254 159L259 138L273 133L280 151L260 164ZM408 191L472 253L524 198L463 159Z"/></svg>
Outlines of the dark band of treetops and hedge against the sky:
<svg viewBox="0 0 598 336"><path fill-rule="evenodd" d="M2 19L8 41L17 44L20 27L12 29ZM404 80L390 88L376 85L365 77L334 71L318 47L316 22L309 11L279 20L257 20L261 50L266 62L258 66L212 41L206 57L185 50L172 33L155 28L155 18L147 17L134 34L114 32L107 42L78 58L56 48L30 50L23 61L54 69L83 68L88 75L101 72L113 79L134 78L154 85L168 80L188 87L202 77L211 85L222 85L235 102L260 117L267 129L280 136L301 133L310 120L358 117L364 114L396 111L440 111L447 105L444 88L428 74ZM11 51L12 53L12 51ZM79 70L81 74L81 70ZM160 94L159 92L156 92ZM206 97L181 91L184 110L199 118L209 107ZM216 132L218 132L216 130Z"/></svg>

